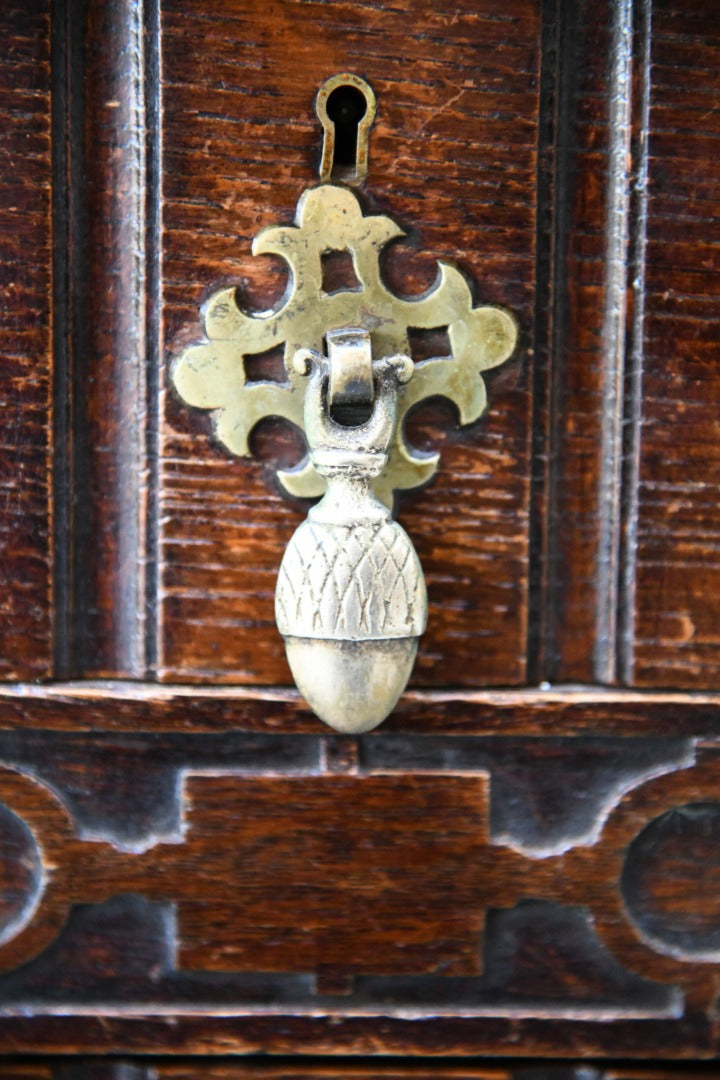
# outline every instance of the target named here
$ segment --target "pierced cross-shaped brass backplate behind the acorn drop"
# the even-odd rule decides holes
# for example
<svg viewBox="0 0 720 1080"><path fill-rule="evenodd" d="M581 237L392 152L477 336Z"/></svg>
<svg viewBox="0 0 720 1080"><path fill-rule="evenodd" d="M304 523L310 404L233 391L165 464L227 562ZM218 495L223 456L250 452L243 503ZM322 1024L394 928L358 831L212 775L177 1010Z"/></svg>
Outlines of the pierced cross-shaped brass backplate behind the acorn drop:
<svg viewBox="0 0 720 1080"><path fill-rule="evenodd" d="M216 410L217 437L233 454L248 455L248 436L267 416L303 423L307 380L293 368L299 349L324 350L328 330L359 327L370 334L372 355L381 359L409 353L408 327L448 327L452 354L416 364L410 382L398 394L397 431L388 464L375 481L376 495L392 504L393 491L420 486L437 470L439 455L420 455L408 445L403 419L408 409L434 395L458 407L461 423L483 414L487 399L481 373L513 352L517 328L502 308L473 307L462 273L439 262L435 286L418 298L397 297L383 284L379 256L384 245L403 235L389 217L364 216L347 188L321 185L303 192L297 224L269 228L253 243L255 255L279 255L289 265L288 287L279 308L266 312L240 309L234 288L210 297L204 311L207 340L178 357L173 380L190 405ZM335 293L322 288L322 256L348 252L359 287ZM247 382L246 356L284 346L287 381ZM325 490L325 480L309 457L297 469L279 471L285 490L312 498Z"/></svg>

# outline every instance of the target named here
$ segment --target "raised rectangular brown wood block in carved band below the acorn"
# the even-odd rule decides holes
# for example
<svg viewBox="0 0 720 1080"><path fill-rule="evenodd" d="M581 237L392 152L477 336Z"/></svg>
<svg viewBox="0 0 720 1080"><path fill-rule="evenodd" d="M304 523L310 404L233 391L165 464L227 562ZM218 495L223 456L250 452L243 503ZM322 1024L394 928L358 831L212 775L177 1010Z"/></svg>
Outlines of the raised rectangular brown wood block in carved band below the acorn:
<svg viewBox="0 0 720 1080"><path fill-rule="evenodd" d="M180 968L479 972L485 777L188 784L194 882L179 910ZM218 843L229 818L242 839Z"/></svg>

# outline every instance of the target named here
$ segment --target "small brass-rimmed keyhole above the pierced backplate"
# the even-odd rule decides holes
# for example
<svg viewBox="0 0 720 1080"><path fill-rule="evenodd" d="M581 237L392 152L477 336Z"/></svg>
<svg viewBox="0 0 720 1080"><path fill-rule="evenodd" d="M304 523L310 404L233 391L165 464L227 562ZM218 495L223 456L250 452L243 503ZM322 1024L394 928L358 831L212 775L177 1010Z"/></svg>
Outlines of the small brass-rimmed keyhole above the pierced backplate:
<svg viewBox="0 0 720 1080"><path fill-rule="evenodd" d="M325 132L322 180L363 183L375 110L375 94L359 76L345 72L323 83L315 98L315 112Z"/></svg>

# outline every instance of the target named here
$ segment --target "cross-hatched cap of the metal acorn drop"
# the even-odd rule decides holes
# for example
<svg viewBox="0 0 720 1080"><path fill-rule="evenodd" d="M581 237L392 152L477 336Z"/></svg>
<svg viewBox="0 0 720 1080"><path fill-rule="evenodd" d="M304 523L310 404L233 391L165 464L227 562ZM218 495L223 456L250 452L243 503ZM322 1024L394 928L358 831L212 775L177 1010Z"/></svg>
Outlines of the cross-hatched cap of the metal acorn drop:
<svg viewBox="0 0 720 1080"><path fill-rule="evenodd" d="M396 522L329 526L304 522L277 577L281 634L326 640L417 637L425 586L415 548Z"/></svg>

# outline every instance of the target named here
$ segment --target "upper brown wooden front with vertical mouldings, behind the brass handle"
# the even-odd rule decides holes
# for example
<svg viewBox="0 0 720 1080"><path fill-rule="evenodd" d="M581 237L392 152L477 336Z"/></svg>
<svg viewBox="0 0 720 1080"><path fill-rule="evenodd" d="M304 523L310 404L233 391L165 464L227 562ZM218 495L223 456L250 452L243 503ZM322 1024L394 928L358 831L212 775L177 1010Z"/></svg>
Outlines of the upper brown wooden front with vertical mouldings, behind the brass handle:
<svg viewBox="0 0 720 1080"><path fill-rule="evenodd" d="M457 262L520 329L477 427L412 421L443 454L399 507L415 684L717 686L712 14L9 6L4 677L288 683L272 593L307 508L268 463L302 448L268 421L232 460L167 375L210 293L282 292L250 240L316 181L313 96L356 66L363 199L410 230L389 284Z"/></svg>

